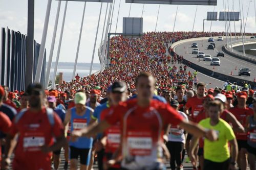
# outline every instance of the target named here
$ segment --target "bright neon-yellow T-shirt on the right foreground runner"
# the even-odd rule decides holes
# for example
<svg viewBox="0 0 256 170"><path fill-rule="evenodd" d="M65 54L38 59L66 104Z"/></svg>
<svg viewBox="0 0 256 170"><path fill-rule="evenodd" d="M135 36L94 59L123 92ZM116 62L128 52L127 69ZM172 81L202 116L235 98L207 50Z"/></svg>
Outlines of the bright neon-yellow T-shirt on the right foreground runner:
<svg viewBox="0 0 256 170"><path fill-rule="evenodd" d="M234 132L230 125L221 118L219 123L215 126L210 125L210 118L201 120L199 125L206 129L215 130L218 134L217 141L209 141L208 139L204 139L204 159L212 162L226 161L230 157L228 141L235 138Z"/></svg>

